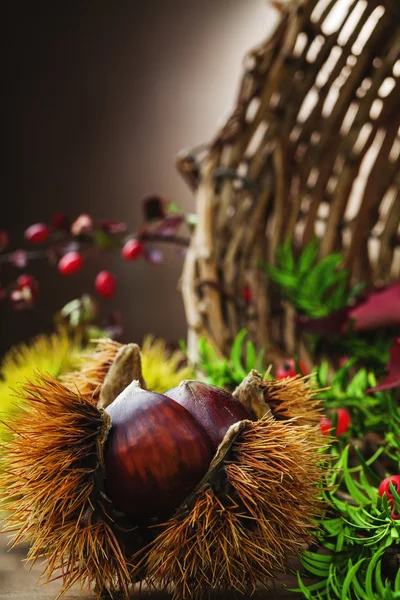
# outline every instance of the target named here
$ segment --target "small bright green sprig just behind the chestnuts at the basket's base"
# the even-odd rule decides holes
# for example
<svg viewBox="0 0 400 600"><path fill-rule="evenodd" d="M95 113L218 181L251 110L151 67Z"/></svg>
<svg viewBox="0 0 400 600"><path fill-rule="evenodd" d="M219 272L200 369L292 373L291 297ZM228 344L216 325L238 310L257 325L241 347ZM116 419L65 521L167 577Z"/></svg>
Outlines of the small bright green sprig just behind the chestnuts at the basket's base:
<svg viewBox="0 0 400 600"><path fill-rule="evenodd" d="M254 344L245 339L246 335L245 329L239 331L228 358L220 358L204 337L200 339L200 360L196 368L204 373L208 383L225 389L233 389L252 369L263 372L265 350L257 352Z"/></svg>

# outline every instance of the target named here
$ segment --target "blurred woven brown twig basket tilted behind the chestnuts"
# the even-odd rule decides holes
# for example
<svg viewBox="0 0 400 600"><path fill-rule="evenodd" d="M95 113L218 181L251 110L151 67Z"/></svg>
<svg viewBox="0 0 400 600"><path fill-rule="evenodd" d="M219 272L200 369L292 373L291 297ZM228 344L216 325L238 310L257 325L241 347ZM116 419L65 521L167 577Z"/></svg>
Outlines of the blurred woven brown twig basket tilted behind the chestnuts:
<svg viewBox="0 0 400 600"><path fill-rule="evenodd" d="M304 354L260 269L287 238L342 251L354 282L400 277L400 0L274 6L231 116L178 159L198 215L181 280L193 358L199 336L223 355L243 327L260 348Z"/></svg>

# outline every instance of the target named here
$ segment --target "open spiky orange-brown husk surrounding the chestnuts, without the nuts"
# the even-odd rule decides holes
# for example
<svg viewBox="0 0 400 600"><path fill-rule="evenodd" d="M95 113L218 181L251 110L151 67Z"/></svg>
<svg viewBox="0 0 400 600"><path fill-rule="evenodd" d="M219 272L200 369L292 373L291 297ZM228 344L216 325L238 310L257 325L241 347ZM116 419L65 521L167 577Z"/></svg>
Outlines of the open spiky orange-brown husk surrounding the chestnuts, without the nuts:
<svg viewBox="0 0 400 600"><path fill-rule="evenodd" d="M267 586L312 540L314 519L324 510L318 427L301 415L276 420L268 410L233 425L209 472L172 518L135 525L104 491L110 423L98 402L120 352L121 346L103 341L64 383L38 375L21 388L23 410L10 424L0 473L13 543L31 544L28 561L46 559L45 581L60 576L61 594L78 583L98 597L120 590L128 598L138 580L172 586L176 598ZM254 378L259 382L258 374ZM311 401L308 382L287 385L275 386L286 404L289 389L297 390L297 403L300 389Z"/></svg>

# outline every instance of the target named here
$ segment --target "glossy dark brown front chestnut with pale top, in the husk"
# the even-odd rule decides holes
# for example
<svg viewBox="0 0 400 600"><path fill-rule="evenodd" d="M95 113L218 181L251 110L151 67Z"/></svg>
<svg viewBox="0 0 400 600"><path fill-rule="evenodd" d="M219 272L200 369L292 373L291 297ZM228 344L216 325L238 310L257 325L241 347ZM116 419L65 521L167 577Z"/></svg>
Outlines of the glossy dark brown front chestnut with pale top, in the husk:
<svg viewBox="0 0 400 600"><path fill-rule="evenodd" d="M106 493L132 518L164 517L207 472L213 448L184 406L130 384L108 406Z"/></svg>

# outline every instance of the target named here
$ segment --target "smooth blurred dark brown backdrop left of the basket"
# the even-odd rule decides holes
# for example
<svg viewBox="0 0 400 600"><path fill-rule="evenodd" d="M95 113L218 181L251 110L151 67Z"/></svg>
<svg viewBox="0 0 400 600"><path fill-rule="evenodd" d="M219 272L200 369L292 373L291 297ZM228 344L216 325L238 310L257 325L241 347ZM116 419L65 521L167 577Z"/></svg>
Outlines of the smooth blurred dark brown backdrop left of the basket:
<svg viewBox="0 0 400 600"><path fill-rule="evenodd" d="M147 193L193 210L176 154L215 134L233 104L243 55L274 15L265 0L12 2L2 20L0 229L15 249L27 226L55 212L72 219L88 212L134 230ZM32 265L25 271L41 282L39 311L0 308L0 354L48 330L57 309L94 291L104 267L117 276L118 291L102 311L121 310L125 339L184 338L181 265L173 250L161 267L116 253L73 278Z"/></svg>

